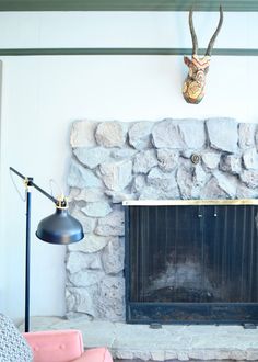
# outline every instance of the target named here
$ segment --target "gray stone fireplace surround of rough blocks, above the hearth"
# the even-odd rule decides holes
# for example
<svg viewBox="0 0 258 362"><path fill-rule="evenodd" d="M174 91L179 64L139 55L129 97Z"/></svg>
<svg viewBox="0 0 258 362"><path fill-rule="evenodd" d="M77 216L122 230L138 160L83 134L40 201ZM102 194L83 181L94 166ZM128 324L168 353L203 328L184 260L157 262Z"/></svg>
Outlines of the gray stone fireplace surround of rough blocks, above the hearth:
<svg viewBox="0 0 258 362"><path fill-rule="evenodd" d="M125 319L124 200L258 197L256 124L79 121L70 142L70 210L85 238L68 247L68 317Z"/></svg>

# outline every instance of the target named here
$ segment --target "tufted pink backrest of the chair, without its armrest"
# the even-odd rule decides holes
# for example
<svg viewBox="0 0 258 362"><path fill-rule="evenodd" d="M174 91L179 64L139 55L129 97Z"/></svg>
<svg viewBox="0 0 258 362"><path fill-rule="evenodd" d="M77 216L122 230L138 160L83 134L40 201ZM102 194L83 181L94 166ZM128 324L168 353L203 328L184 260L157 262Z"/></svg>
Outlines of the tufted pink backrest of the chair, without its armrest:
<svg viewBox="0 0 258 362"><path fill-rule="evenodd" d="M83 353L81 332L54 330L24 333L32 347L34 362L70 362Z"/></svg>

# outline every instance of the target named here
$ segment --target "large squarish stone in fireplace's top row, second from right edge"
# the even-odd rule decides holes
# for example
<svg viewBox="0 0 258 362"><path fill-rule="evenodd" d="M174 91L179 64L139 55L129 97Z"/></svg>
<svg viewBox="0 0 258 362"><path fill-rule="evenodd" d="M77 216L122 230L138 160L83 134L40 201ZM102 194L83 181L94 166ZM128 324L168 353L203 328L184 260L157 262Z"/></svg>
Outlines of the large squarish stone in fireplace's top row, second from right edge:
<svg viewBox="0 0 258 362"><path fill-rule="evenodd" d="M237 122L232 118L210 118L206 122L212 148L236 152L238 143Z"/></svg>

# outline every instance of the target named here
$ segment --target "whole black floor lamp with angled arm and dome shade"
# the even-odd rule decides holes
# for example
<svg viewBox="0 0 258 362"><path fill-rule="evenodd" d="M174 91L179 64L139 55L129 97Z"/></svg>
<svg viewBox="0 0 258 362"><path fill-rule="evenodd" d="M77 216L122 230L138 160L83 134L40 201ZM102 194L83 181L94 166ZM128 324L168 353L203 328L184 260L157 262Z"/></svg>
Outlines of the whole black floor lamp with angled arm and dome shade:
<svg viewBox="0 0 258 362"><path fill-rule="evenodd" d="M14 168L10 170L23 179L26 190L26 262L25 262L25 332L30 331L30 261L31 261L31 188L35 188L56 204L55 214L44 218L37 227L36 236L47 242L68 245L83 239L82 225L68 212L66 197L55 199L36 183Z"/></svg>

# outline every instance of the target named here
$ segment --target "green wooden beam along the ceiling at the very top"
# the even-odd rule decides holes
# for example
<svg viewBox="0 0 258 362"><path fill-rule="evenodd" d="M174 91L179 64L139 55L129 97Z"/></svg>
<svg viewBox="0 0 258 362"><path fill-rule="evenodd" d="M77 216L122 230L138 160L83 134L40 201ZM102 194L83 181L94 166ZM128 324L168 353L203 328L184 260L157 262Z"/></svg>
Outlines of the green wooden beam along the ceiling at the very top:
<svg viewBox="0 0 258 362"><path fill-rule="evenodd" d="M258 11L258 0L0 0L0 11Z"/></svg>

